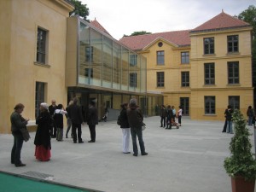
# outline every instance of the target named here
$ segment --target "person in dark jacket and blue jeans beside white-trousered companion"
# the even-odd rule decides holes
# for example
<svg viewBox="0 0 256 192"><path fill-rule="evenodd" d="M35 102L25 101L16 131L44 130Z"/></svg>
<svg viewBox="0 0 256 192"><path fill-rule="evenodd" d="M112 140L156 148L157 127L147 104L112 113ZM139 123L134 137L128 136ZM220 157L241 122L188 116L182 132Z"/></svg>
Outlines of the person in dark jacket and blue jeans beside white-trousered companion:
<svg viewBox="0 0 256 192"><path fill-rule="evenodd" d="M141 148L141 154L147 155L143 142L143 113L142 110L137 106L137 100L132 98L130 100L129 108L127 109L128 122L131 127L131 139L133 146L133 156L137 156L137 138Z"/></svg>

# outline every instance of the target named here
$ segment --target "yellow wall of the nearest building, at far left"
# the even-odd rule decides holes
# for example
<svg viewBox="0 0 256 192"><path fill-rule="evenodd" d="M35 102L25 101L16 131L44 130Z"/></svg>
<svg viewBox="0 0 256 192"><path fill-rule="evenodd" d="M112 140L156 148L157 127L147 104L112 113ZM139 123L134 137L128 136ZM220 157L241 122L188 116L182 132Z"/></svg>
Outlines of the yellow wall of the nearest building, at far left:
<svg viewBox="0 0 256 192"><path fill-rule="evenodd" d="M66 32L72 10L64 0L0 1L0 132L10 132L9 116L19 102L31 124L40 101L66 105ZM40 51L42 37L46 46Z"/></svg>

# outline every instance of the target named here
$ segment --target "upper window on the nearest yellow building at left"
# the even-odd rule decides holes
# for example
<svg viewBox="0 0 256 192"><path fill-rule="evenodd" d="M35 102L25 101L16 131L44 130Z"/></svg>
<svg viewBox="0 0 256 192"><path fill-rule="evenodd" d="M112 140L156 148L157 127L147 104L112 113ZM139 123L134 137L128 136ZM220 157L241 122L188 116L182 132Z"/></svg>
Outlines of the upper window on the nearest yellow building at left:
<svg viewBox="0 0 256 192"><path fill-rule="evenodd" d="M37 62L44 63L46 61L46 31L38 28L37 40Z"/></svg>

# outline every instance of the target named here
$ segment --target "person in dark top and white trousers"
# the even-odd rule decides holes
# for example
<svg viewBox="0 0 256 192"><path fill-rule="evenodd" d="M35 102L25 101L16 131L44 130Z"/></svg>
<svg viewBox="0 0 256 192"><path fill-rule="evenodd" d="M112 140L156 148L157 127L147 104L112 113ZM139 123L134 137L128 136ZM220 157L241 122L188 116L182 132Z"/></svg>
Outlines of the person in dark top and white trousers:
<svg viewBox="0 0 256 192"><path fill-rule="evenodd" d="M128 108L128 103L125 102L123 104L121 104L121 112L120 112L120 128L122 129L123 132L123 153L124 154L131 154L130 150L129 150L129 143L130 143L130 125L128 122L128 118L127 118L127 108Z"/></svg>

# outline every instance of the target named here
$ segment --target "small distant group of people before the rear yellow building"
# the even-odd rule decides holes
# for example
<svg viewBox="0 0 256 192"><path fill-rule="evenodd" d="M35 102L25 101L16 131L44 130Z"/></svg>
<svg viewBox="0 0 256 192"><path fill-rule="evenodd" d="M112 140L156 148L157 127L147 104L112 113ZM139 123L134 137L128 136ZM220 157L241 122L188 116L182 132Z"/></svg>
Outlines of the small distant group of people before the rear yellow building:
<svg viewBox="0 0 256 192"><path fill-rule="evenodd" d="M183 115L183 109L181 106L178 107L178 111L174 106L168 105L167 108L165 105L162 105L160 108L160 127L166 127L166 129L172 129L172 126L176 126L177 129L181 126L181 119ZM177 122L175 119L177 118Z"/></svg>

